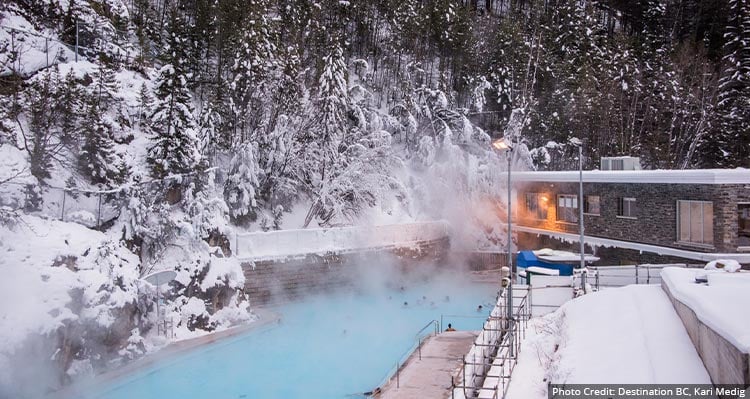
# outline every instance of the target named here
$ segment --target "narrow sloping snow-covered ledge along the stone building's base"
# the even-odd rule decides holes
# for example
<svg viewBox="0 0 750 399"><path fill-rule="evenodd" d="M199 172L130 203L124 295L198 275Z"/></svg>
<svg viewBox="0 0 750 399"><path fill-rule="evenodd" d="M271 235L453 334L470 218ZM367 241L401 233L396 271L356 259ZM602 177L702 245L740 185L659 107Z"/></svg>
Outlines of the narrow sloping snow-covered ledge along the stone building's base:
<svg viewBox="0 0 750 399"><path fill-rule="evenodd" d="M580 239L578 234L562 233L559 231L551 231L545 229L537 229L534 227L525 227L513 225L513 230L524 233L531 233L537 235L546 235L549 237L557 238L566 242L578 242ZM750 263L750 253L712 253L712 252L696 252L688 251L685 249L662 247L659 245L642 244L638 242L613 240L611 238L584 236L586 244L594 247L614 247L633 249L640 252L655 253L657 255L665 256L676 256L685 259L695 259L703 262L710 262L716 259L732 259L739 263L747 264Z"/></svg>

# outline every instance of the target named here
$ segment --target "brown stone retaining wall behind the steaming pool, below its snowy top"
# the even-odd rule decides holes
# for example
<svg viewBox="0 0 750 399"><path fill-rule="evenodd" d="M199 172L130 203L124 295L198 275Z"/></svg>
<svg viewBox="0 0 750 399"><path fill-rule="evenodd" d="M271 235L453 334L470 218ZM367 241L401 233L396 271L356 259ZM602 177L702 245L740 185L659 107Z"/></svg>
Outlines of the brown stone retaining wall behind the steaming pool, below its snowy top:
<svg viewBox="0 0 750 399"><path fill-rule="evenodd" d="M413 247L246 262L242 264L245 293L251 305L286 302L351 285L357 264L395 261L399 269L408 271L421 262L439 263L449 248L450 242L445 238Z"/></svg>

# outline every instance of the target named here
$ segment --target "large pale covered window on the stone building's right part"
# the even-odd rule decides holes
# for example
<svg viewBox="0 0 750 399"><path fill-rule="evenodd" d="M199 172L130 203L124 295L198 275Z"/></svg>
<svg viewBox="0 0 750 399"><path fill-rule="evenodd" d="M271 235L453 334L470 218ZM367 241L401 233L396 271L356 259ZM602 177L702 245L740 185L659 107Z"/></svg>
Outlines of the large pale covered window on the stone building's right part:
<svg viewBox="0 0 750 399"><path fill-rule="evenodd" d="M713 244L713 202L677 201L677 233L681 242Z"/></svg>

